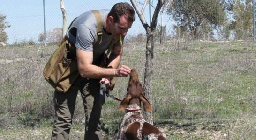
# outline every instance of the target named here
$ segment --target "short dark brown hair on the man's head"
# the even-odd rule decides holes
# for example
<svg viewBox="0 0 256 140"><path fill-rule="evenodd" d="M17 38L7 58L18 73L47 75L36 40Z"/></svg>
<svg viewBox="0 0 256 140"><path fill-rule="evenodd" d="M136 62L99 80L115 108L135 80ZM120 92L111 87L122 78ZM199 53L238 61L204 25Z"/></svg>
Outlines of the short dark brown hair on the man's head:
<svg viewBox="0 0 256 140"><path fill-rule="evenodd" d="M133 7L128 2L120 2L115 4L110 12L108 13L108 17L112 16L114 19L114 22L119 22L120 17L122 15L127 15L128 22L135 21L135 11Z"/></svg>

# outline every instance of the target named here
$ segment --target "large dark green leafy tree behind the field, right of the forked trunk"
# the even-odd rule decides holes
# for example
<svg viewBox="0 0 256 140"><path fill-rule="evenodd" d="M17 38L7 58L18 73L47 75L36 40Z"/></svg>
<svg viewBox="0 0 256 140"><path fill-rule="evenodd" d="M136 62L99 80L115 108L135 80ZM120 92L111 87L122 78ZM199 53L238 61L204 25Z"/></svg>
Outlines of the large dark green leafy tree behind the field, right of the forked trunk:
<svg viewBox="0 0 256 140"><path fill-rule="evenodd" d="M200 38L225 21L224 10L223 0L174 0L167 13L177 22L181 33Z"/></svg>

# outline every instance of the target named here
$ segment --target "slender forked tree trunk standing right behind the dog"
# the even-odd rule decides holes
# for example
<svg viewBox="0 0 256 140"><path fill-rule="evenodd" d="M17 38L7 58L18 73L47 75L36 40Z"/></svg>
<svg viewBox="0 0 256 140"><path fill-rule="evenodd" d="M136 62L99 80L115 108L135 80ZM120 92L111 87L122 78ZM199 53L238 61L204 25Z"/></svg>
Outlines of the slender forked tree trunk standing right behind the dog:
<svg viewBox="0 0 256 140"><path fill-rule="evenodd" d="M145 17L143 15L143 10L138 8L138 5L135 0L130 0L136 13L139 16L139 19L146 30L147 42L146 42L146 63L145 63L145 74L144 74L144 85L143 92L146 98L151 102L151 78L153 75L153 60L154 60L154 43L156 39L156 27L157 27L157 18L160 12L161 7L165 3L165 0L158 0L157 6L155 7L155 11L151 20L151 25L149 25ZM144 111L144 119L150 123L153 123L152 112Z"/></svg>

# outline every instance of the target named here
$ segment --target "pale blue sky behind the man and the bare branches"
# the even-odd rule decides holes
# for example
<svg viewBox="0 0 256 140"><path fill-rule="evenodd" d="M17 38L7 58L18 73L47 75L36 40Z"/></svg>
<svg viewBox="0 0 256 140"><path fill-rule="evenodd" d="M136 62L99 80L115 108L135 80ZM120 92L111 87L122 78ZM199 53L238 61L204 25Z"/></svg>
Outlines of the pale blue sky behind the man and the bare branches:
<svg viewBox="0 0 256 140"><path fill-rule="evenodd" d="M64 0L64 2L69 24L76 16L85 11L111 9L115 3L130 3L130 0ZM156 0L153 0L153 5L156 5L156 2ZM43 0L0 0L0 6L0 13L7 15L6 21L11 25L10 28L5 30L8 34L9 44L30 39L37 41L38 35L44 32ZM139 5L139 7L141 8L142 5ZM154 9L151 8L151 16L153 11ZM62 27L60 0L45 0L45 13L47 31ZM149 22L148 6L145 8L144 16ZM160 22L160 15L158 22ZM172 26L173 22L165 15L165 23ZM137 35L138 33L145 33L145 30L136 16L136 21L128 31L128 35Z"/></svg>

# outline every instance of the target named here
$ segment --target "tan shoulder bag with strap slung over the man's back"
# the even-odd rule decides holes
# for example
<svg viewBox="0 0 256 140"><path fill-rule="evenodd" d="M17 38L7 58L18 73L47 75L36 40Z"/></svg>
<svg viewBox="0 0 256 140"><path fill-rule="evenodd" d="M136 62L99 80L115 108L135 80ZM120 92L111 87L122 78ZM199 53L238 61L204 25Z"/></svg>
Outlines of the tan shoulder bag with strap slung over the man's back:
<svg viewBox="0 0 256 140"><path fill-rule="evenodd" d="M97 10L93 10L92 12L96 17L97 35L98 38L100 38L99 36L102 35L103 25L101 15ZM75 19L71 22L68 28L70 28L74 21ZM67 37L64 37L43 70L46 81L59 92L67 92L79 77L75 50L75 46Z"/></svg>

